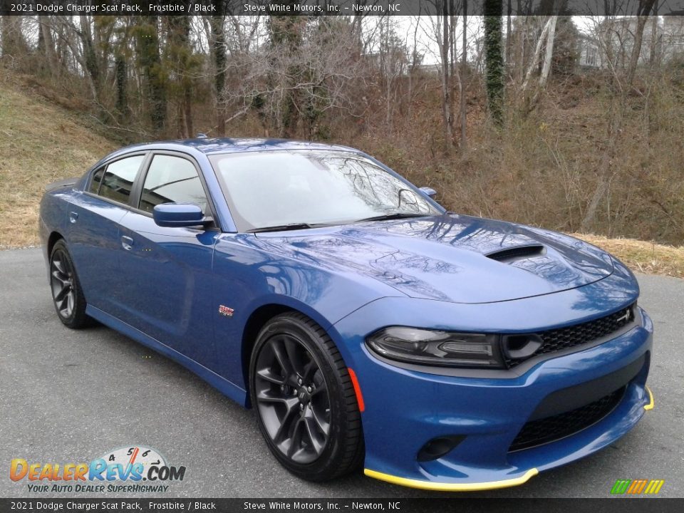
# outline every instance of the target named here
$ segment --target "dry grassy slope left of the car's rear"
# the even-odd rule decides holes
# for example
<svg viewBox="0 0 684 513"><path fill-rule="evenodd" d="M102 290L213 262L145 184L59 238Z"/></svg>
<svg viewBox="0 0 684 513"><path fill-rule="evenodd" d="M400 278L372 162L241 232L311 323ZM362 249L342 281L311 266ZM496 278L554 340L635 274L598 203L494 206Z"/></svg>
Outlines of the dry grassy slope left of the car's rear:
<svg viewBox="0 0 684 513"><path fill-rule="evenodd" d="M44 187L82 175L115 147L68 110L0 77L0 249L37 244Z"/></svg>

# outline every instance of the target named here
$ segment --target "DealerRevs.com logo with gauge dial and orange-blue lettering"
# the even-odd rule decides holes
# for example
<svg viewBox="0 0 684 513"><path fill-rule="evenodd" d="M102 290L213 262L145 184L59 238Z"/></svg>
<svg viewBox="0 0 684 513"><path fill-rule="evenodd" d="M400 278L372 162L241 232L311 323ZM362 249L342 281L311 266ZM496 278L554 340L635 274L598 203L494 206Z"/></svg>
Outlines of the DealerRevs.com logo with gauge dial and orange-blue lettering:
<svg viewBox="0 0 684 513"><path fill-rule="evenodd" d="M185 467L168 465L154 449L131 445L105 452L90 463L29 462L14 458L9 478L26 482L29 492L167 492L182 481Z"/></svg>

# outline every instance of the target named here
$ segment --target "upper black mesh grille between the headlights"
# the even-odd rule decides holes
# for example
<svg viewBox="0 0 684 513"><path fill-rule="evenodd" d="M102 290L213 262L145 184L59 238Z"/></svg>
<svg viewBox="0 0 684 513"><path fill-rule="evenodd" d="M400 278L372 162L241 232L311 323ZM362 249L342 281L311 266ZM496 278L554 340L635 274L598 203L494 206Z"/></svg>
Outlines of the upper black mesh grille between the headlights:
<svg viewBox="0 0 684 513"><path fill-rule="evenodd" d="M616 311L614 314L594 319L594 321L576 324L567 328L534 333L534 336L538 336L541 339L541 346L539 346L534 354L527 358L581 346L581 344L615 333L634 320L635 307L636 304L632 304L627 308ZM527 358L519 360L507 358L506 363L509 367L515 367L524 360L527 360Z"/></svg>

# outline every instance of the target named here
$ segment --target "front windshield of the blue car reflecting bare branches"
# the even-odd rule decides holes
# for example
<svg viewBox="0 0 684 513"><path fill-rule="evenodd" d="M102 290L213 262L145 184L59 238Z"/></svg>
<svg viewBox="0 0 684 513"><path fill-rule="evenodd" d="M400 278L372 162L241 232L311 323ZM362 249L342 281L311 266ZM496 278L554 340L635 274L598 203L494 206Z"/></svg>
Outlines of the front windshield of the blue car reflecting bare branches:
<svg viewBox="0 0 684 513"><path fill-rule="evenodd" d="M241 232L440 214L412 185L350 152L275 150L209 159Z"/></svg>

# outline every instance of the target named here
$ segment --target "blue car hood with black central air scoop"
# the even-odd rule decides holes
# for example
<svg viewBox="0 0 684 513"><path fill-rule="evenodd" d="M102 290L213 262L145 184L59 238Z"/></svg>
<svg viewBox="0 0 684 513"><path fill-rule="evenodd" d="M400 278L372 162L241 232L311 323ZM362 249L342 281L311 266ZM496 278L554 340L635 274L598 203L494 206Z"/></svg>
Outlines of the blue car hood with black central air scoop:
<svg viewBox="0 0 684 513"><path fill-rule="evenodd" d="M552 294L613 272L606 252L578 239L456 214L257 237L283 257L370 276L410 297L456 303Z"/></svg>

